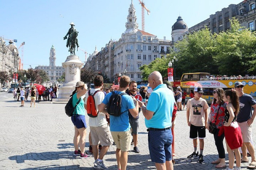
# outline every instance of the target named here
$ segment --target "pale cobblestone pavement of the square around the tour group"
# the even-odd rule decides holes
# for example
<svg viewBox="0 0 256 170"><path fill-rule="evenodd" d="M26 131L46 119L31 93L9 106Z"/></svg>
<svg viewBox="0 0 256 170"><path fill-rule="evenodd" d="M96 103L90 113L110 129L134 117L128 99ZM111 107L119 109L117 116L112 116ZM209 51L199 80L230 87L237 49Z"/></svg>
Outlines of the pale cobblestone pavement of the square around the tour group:
<svg viewBox="0 0 256 170"><path fill-rule="evenodd" d="M20 102L14 102L12 94L9 98L0 99L0 169L93 169L93 157L80 159L74 157L73 124L64 112L64 104L40 102L36 108L20 108ZM142 114L139 128L138 148L140 154L132 151L128 154L127 169L156 169L150 160L147 131ZM88 123L88 116L86 122ZM255 123L253 124L255 129ZM88 133L86 150L88 150ZM189 127L186 123L186 111L178 112L175 126L176 164L174 169L216 169L210 162L217 159L217 149L213 136L207 132L205 139L205 163L197 163L197 159L187 159L192 153L193 144L189 139ZM255 131L253 140L255 141ZM131 149L133 146L131 146ZM113 145L104 157L109 169L117 169ZM227 159L227 154L226 154ZM250 159L250 158L249 158ZM226 161L228 163L228 161ZM248 163L242 163L246 169ZM224 169L224 168L223 168Z"/></svg>

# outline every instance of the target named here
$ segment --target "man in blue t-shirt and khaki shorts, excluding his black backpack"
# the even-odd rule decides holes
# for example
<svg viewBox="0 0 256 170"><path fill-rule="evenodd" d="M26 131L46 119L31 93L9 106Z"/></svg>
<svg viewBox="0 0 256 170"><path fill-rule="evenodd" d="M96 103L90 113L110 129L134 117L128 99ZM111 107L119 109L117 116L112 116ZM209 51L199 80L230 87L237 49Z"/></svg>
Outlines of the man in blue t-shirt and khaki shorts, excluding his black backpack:
<svg viewBox="0 0 256 170"><path fill-rule="evenodd" d="M119 89L116 94L125 93L130 83L130 77L122 76L119 81ZM99 106L99 112L107 113L106 106L112 93L108 93L103 102ZM133 117L138 116L139 105L138 101L129 96L122 95L121 112L118 117L110 115L110 131L116 144L116 159L118 169L126 169L128 151L131 148L131 126L129 123L128 110ZM135 105L134 105L135 103ZM120 153L121 151L121 153Z"/></svg>

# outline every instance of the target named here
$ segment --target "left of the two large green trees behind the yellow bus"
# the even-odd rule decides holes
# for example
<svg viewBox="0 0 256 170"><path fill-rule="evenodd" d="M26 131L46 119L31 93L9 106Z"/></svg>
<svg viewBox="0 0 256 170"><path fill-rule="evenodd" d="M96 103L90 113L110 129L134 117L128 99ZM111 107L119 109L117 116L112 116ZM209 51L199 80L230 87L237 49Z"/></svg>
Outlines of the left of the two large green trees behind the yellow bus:
<svg viewBox="0 0 256 170"><path fill-rule="evenodd" d="M174 54L178 59L174 67L176 76L181 77L187 72L218 73L214 56L216 55L216 35L212 35L208 28L187 35L185 39L175 44L178 52Z"/></svg>

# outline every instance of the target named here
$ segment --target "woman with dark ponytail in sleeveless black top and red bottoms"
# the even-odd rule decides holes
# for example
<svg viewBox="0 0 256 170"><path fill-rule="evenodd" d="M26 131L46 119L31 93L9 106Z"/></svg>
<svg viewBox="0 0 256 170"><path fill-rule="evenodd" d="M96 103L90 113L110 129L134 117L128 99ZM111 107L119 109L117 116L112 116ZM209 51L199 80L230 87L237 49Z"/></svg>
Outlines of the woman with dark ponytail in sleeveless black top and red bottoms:
<svg viewBox="0 0 256 170"><path fill-rule="evenodd" d="M228 170L232 170L234 166L234 153L236 156L236 167L234 170L240 170L241 154L239 147L243 144L241 128L236 122L239 113L239 97L235 89L225 90L224 101L228 102L225 110L224 134L228 151Z"/></svg>

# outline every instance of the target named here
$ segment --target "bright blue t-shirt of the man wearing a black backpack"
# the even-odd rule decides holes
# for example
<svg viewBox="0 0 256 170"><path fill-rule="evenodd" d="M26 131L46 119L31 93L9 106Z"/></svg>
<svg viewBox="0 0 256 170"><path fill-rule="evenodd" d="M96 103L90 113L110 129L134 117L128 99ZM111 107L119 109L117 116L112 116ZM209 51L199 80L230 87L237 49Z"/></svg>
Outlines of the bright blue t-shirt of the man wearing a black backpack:
<svg viewBox="0 0 256 170"><path fill-rule="evenodd" d="M121 94L124 92L115 91L116 94ZM112 92L108 93L107 96L104 98L102 103L108 105L108 101L112 96ZM128 109L134 109L135 105L133 99L129 95L122 96L122 103L121 103L121 112L120 116L112 116L110 115L110 131L128 131L131 128L129 123L129 116L128 116Z"/></svg>

